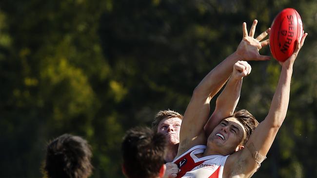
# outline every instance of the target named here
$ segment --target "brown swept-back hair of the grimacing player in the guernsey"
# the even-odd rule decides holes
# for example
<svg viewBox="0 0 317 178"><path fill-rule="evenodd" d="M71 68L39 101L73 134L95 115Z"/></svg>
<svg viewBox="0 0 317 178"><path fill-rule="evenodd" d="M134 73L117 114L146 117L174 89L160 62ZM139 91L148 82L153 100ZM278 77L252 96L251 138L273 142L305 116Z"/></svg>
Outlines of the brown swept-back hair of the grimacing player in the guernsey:
<svg viewBox="0 0 317 178"><path fill-rule="evenodd" d="M246 134L244 134L242 139L242 145L244 145L249 140L253 130L258 126L258 121L249 111L245 109L236 111L232 117L236 118L245 129Z"/></svg>

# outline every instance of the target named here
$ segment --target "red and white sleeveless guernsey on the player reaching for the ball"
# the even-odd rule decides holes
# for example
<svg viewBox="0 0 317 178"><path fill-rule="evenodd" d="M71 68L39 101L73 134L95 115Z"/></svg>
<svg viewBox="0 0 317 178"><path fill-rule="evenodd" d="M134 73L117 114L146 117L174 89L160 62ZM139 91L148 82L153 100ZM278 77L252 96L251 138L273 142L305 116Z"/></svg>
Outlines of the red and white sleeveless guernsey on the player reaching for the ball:
<svg viewBox="0 0 317 178"><path fill-rule="evenodd" d="M179 168L177 178L222 178L223 166L228 156L195 156L205 149L205 145L194 146L173 161Z"/></svg>

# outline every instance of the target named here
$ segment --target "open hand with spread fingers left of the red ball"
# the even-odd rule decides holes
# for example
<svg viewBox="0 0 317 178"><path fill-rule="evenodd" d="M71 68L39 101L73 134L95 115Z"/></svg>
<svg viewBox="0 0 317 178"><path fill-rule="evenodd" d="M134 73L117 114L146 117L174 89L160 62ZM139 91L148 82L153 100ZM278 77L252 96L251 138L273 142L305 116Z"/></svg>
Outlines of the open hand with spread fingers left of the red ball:
<svg viewBox="0 0 317 178"><path fill-rule="evenodd" d="M248 35L247 25L243 22L243 38L237 48L236 53L241 57L241 60L269 60L270 56L260 55L258 52L262 47L267 46L269 44L269 39L266 39L260 42L263 38L265 38L271 31L271 28L268 28L265 32L261 33L257 38L254 38L254 34L256 31L256 26L258 24L258 20L254 20L252 27L250 29L250 33Z"/></svg>

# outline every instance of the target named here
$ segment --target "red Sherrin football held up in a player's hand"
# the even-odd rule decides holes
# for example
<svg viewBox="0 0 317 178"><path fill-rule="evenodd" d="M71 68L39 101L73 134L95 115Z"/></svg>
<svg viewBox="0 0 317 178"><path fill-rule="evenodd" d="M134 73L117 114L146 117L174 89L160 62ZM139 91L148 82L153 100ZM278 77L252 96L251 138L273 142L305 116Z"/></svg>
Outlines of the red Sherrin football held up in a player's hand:
<svg viewBox="0 0 317 178"><path fill-rule="evenodd" d="M303 24L293 8L282 10L273 20L270 32L270 50L274 58L285 61L295 48L296 39L303 36Z"/></svg>

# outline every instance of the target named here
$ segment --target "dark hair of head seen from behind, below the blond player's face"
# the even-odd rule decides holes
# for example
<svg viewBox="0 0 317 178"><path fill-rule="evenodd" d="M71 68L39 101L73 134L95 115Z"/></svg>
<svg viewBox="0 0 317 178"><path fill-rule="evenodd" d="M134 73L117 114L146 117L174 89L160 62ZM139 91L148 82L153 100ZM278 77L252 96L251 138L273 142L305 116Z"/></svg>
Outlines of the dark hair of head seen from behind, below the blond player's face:
<svg viewBox="0 0 317 178"><path fill-rule="evenodd" d="M165 137L149 127L126 132L122 142L123 167L128 178L155 178L164 164Z"/></svg>

